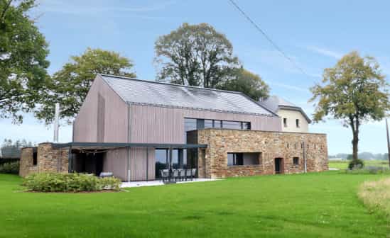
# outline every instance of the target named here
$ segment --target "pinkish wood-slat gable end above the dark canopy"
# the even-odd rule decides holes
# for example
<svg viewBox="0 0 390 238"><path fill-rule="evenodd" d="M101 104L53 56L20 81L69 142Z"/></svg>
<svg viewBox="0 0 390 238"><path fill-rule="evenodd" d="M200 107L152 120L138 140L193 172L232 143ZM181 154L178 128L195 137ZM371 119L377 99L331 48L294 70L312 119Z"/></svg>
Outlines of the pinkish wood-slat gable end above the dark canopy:
<svg viewBox="0 0 390 238"><path fill-rule="evenodd" d="M98 94L104 98L104 140L102 142L127 142L128 105L99 76L75 119L75 142L97 142Z"/></svg>

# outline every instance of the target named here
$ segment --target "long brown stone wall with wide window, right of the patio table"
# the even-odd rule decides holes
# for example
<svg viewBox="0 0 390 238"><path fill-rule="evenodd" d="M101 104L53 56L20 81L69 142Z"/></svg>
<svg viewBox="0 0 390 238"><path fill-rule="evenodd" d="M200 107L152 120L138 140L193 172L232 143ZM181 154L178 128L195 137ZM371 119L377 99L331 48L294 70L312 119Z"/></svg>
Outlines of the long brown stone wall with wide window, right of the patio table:
<svg viewBox="0 0 390 238"><path fill-rule="evenodd" d="M325 134L299 132L265 132L256 130L198 130L199 144L207 144L199 153L199 175L205 178L275 174L275 158L282 158L282 173L327 170ZM305 147L305 148L303 148ZM256 165L227 165L228 152L258 152ZM293 164L298 157L298 165Z"/></svg>

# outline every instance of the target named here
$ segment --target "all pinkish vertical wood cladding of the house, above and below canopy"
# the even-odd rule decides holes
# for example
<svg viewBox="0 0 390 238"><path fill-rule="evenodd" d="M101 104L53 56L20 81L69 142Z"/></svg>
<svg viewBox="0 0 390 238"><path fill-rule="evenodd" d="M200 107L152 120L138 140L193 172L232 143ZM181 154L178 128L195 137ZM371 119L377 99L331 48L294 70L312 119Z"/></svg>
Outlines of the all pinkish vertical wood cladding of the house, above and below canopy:
<svg viewBox="0 0 390 238"><path fill-rule="evenodd" d="M251 123L251 130L281 130L277 116L126 103L97 76L73 124L73 141L183 144L185 118L244 121ZM154 153L153 148L109 150L104 155L103 169L123 181L152 180Z"/></svg>

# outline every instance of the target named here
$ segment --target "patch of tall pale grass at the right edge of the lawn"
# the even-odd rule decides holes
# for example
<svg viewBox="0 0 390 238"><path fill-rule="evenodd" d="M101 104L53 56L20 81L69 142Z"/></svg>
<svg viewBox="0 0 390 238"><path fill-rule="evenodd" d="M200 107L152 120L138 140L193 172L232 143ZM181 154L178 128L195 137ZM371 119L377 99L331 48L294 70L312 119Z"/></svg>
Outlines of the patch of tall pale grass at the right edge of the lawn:
<svg viewBox="0 0 390 238"><path fill-rule="evenodd" d="M390 178L364 182L358 194L368 208L390 218Z"/></svg>

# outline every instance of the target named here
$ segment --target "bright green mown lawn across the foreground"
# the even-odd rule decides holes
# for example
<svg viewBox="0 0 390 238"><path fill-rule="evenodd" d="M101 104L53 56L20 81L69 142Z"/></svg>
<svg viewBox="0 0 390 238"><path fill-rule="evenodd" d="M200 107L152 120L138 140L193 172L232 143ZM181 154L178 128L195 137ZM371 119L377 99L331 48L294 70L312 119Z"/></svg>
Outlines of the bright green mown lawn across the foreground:
<svg viewBox="0 0 390 238"><path fill-rule="evenodd" d="M0 175L0 237L386 237L389 222L357 198L384 176L256 176L132 188L25 193Z"/></svg>

